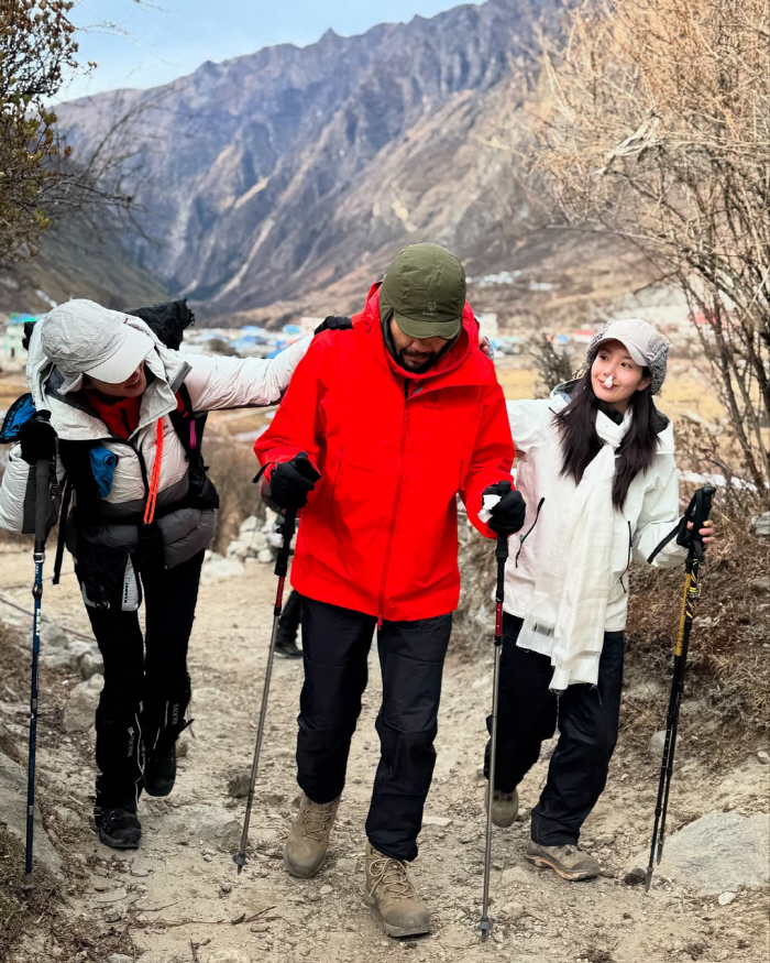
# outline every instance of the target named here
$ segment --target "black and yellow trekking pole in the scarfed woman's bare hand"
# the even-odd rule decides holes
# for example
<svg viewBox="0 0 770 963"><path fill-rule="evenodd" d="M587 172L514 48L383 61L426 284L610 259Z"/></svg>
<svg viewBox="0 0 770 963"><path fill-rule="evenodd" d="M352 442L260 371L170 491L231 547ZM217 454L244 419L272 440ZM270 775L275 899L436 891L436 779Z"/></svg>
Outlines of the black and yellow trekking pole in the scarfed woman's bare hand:
<svg viewBox="0 0 770 963"><path fill-rule="evenodd" d="M698 489L693 495L682 519L683 538L680 541L684 541L689 551L684 568L684 591L682 593L682 608L679 616L676 646L674 648L671 693L669 696L669 709L666 718L666 740L663 742L663 758L660 765L660 783L658 784L652 842L650 843L650 861L647 866L647 875L645 876L645 889L647 891L649 891L650 883L652 882L653 863L659 864L663 855L666 817L669 809L674 749L679 731L679 710L684 692L684 670L688 663L688 649L690 648L690 632L695 615L695 600L700 594L701 565L705 551L700 530L708 519L712 497L715 492L716 489L713 485L704 485L702 489ZM692 522L692 529L686 527L689 522Z"/></svg>

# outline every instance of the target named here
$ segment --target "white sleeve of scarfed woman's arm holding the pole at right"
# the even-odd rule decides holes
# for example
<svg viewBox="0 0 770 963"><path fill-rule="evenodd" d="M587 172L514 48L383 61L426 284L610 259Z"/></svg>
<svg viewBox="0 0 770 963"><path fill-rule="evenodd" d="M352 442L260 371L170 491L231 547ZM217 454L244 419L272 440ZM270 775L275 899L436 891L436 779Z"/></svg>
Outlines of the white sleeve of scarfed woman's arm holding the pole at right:
<svg viewBox="0 0 770 963"><path fill-rule="evenodd" d="M672 568L688 557L686 548L676 545L675 535L662 548L658 547L680 522L679 472L673 455L659 455L657 464L654 484L645 492L634 534L634 557L653 568Z"/></svg>

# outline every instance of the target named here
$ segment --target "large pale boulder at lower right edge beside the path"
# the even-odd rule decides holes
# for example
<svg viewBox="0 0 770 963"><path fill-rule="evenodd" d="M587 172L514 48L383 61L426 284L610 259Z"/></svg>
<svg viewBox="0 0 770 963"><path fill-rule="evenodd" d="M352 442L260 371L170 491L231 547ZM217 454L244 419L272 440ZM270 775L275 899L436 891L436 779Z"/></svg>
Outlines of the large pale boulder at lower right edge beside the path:
<svg viewBox="0 0 770 963"><path fill-rule="evenodd" d="M640 853L632 866L648 857ZM660 872L703 896L762 886L770 878L767 814L706 813L667 839Z"/></svg>

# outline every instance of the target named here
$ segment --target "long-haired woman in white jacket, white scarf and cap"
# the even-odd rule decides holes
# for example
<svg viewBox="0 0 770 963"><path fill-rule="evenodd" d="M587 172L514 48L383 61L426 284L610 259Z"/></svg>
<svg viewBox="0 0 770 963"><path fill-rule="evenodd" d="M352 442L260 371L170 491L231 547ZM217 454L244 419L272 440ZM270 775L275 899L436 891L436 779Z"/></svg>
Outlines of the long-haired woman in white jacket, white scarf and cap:
<svg viewBox="0 0 770 963"><path fill-rule="evenodd" d="M673 430L652 402L667 355L647 321L614 321L583 379L508 402L527 518L506 565L493 820L514 822L516 787L558 726L527 858L565 879L600 873L578 840L617 740L628 567L686 556Z"/></svg>

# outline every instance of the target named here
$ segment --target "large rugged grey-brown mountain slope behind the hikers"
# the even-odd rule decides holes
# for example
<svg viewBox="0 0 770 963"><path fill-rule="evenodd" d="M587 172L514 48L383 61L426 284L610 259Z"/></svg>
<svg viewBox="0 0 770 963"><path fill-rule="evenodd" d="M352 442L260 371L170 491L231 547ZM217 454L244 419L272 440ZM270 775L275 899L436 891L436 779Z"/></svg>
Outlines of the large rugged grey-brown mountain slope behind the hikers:
<svg viewBox="0 0 770 963"><path fill-rule="evenodd" d="M471 271L509 267L517 197L496 150L552 0L487 0L361 36L268 47L148 91L63 105L76 152L134 114L129 186L139 263L209 316L348 280L409 241Z"/></svg>

